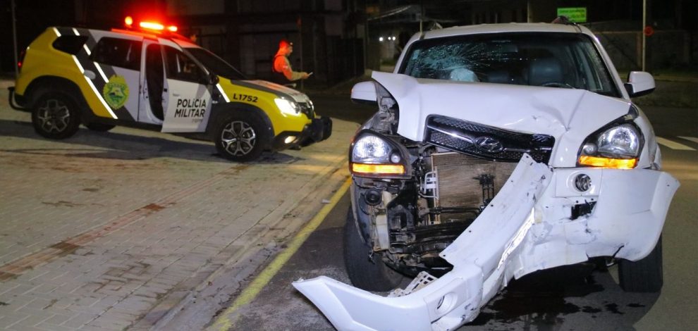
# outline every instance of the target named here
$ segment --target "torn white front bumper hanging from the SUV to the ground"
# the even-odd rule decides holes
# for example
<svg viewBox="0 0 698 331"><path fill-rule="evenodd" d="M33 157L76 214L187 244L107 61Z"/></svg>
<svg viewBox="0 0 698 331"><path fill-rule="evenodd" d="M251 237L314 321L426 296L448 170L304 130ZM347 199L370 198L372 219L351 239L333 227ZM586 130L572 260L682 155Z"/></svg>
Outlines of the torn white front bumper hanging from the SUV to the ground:
<svg viewBox="0 0 698 331"><path fill-rule="evenodd" d="M570 181L580 172L592 177L586 193ZM441 251L450 273L388 297L324 276L293 286L338 330L453 330L512 277L591 256L647 256L677 188L659 171L551 170L525 155L491 204ZM575 215L580 204L592 210Z"/></svg>

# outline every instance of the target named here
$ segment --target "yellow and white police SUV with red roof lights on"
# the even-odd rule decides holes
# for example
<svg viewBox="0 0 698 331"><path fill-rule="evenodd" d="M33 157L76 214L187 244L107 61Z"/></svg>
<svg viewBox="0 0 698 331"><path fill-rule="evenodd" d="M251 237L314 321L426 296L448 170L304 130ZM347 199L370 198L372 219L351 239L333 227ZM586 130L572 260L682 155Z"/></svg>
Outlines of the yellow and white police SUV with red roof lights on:
<svg viewBox="0 0 698 331"><path fill-rule="evenodd" d="M241 162L331 135L331 120L316 116L302 92L246 80L174 26L125 23L49 27L27 47L10 99L32 112L39 135L68 138L81 123L142 127L211 139L221 156Z"/></svg>

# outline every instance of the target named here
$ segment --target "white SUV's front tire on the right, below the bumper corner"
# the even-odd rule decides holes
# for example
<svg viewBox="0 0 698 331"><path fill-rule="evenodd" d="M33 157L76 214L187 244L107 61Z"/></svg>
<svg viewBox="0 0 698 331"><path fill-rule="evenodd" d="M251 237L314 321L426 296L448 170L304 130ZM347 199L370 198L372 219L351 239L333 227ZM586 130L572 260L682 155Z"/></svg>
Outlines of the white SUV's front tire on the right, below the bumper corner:
<svg viewBox="0 0 698 331"><path fill-rule="evenodd" d="M620 260L618 280L625 292L659 292L664 283L661 236L654 249L639 261Z"/></svg>

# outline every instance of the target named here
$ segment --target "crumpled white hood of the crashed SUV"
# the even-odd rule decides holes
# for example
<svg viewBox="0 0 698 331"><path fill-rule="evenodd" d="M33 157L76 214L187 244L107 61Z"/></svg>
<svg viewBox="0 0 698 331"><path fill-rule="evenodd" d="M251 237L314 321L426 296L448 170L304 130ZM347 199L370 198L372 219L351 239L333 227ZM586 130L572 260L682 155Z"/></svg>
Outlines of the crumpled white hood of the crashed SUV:
<svg viewBox="0 0 698 331"><path fill-rule="evenodd" d="M574 166L584 139L630 109L630 101L584 89L426 80L380 72L372 77L398 102L398 134L403 137L423 141L429 115L551 135L556 141L553 166Z"/></svg>

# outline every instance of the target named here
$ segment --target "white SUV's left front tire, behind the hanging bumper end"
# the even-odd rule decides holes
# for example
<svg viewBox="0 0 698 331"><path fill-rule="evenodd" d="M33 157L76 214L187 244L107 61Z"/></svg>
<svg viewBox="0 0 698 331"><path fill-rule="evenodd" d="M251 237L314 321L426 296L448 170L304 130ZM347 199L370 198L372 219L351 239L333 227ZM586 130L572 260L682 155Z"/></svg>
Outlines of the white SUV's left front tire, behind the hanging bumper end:
<svg viewBox="0 0 698 331"><path fill-rule="evenodd" d="M344 265L355 287L366 291L386 292L395 289L405 276L386 266L381 254L371 254L356 227L351 207L344 225Z"/></svg>

